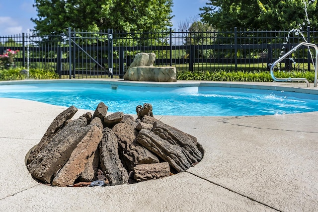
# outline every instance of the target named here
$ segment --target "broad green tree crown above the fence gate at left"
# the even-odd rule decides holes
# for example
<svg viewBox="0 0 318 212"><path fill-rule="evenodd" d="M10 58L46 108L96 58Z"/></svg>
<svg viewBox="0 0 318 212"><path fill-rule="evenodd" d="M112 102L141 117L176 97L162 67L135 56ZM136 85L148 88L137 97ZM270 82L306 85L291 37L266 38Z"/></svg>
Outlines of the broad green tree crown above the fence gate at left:
<svg viewBox="0 0 318 212"><path fill-rule="evenodd" d="M166 29L171 24L172 0L35 0L39 35L61 34L68 27L93 31Z"/></svg>

